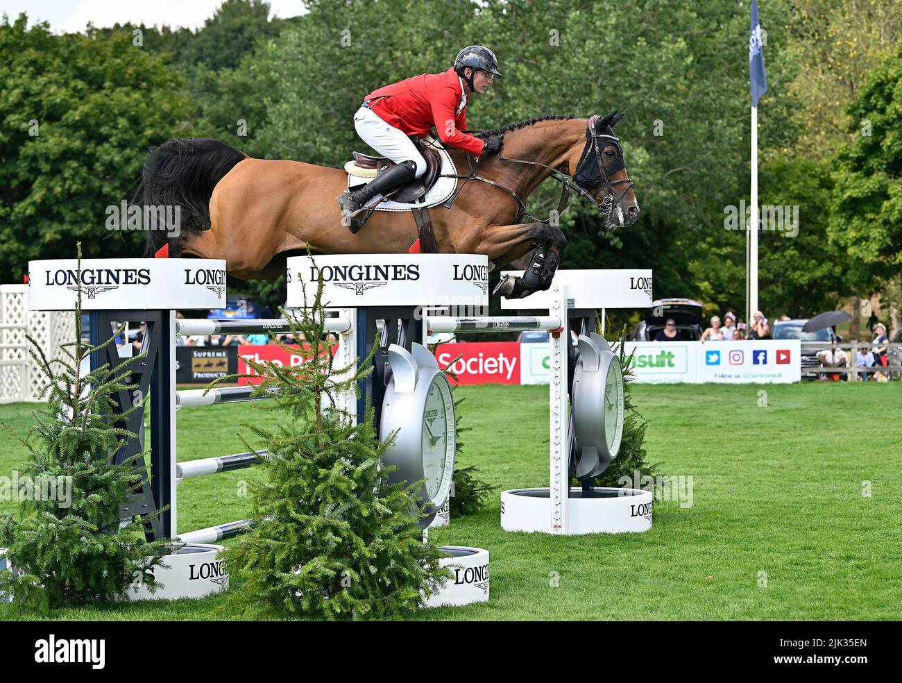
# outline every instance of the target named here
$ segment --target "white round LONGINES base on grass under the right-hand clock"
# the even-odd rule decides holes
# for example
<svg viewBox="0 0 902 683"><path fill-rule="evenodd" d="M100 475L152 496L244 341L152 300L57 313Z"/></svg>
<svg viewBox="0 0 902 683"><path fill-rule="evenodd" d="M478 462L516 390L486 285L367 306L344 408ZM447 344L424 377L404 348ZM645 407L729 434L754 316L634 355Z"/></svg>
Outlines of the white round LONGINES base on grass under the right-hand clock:
<svg viewBox="0 0 902 683"><path fill-rule="evenodd" d="M654 496L635 488L596 486L594 497L571 488L567 499L567 536L586 533L649 531ZM551 533L551 503L548 488L502 491L502 529Z"/></svg>

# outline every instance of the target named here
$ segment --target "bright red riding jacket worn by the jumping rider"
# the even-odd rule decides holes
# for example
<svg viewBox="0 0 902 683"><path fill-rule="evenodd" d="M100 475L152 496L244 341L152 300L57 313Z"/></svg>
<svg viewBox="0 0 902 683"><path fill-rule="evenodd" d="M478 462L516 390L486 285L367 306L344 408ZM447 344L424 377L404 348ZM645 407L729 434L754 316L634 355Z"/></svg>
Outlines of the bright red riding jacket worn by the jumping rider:
<svg viewBox="0 0 902 683"><path fill-rule="evenodd" d="M443 143L479 155L483 141L466 130L466 106L456 114L464 93L454 69L424 73L385 86L364 97L374 114L408 135L423 136L436 126Z"/></svg>

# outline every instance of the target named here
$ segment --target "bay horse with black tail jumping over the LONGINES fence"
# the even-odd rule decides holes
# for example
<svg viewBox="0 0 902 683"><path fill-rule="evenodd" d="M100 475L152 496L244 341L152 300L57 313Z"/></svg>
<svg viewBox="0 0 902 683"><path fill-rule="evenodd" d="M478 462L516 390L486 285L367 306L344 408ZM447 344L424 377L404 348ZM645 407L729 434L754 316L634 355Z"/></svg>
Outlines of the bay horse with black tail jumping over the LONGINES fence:
<svg viewBox="0 0 902 683"><path fill-rule="evenodd" d="M549 115L485 131L503 135L502 149L478 162L449 149L463 187L451 208L432 208L437 251L485 254L494 268L535 249L524 276L502 281L494 293L520 298L548 290L566 237L555 221L531 216L527 198L554 177L562 183L558 209L572 189L602 210L604 226L632 225L639 203L613 134L622 116ZM170 140L152 148L144 164L143 204L180 206L179 230L145 231L145 255L168 244L173 257L225 259L227 272L240 279L274 280L286 257L307 250L408 252L417 228L407 211L376 211L351 234L336 202L346 186L340 169L254 159L216 140ZM520 223L523 217L529 222Z"/></svg>

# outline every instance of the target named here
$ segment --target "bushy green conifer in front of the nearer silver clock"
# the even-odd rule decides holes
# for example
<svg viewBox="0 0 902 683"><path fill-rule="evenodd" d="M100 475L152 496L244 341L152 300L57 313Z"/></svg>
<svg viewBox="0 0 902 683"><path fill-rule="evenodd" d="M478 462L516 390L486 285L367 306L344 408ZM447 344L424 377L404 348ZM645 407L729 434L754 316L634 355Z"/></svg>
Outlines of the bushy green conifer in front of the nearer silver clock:
<svg viewBox="0 0 902 683"><path fill-rule="evenodd" d="M248 360L262 380L254 393L273 394L262 410L280 411L284 420L275 429L244 425L270 455L262 463L265 482L252 485L255 529L226 550L226 566L245 578L240 599L263 610L329 620L401 618L450 572L423 540L420 483L385 479L381 459L390 440L379 442L372 407L360 424L336 408L336 396L357 392L371 372L372 355L366 370L334 366L322 291L319 282L313 304L299 316L282 310L301 342L301 365Z"/></svg>

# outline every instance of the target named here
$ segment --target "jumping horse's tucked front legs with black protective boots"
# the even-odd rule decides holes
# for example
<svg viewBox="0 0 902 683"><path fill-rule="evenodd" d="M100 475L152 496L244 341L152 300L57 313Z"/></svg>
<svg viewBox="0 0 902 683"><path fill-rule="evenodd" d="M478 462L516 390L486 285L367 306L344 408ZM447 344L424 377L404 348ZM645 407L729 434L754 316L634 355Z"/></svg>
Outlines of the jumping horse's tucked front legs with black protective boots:
<svg viewBox="0 0 902 683"><path fill-rule="evenodd" d="M514 245L510 245L511 234L520 236L519 242ZM534 291L545 291L551 287L551 281L554 279L566 246L566 237L558 227L538 222L518 226L498 226L495 230L490 228L487 235L494 237L493 241L496 247L504 244L510 245L510 248L499 254L497 258L492 257L490 252L481 252L488 253L495 263L510 263L535 249L522 277L511 275L503 277L492 294L508 299L522 299Z"/></svg>

